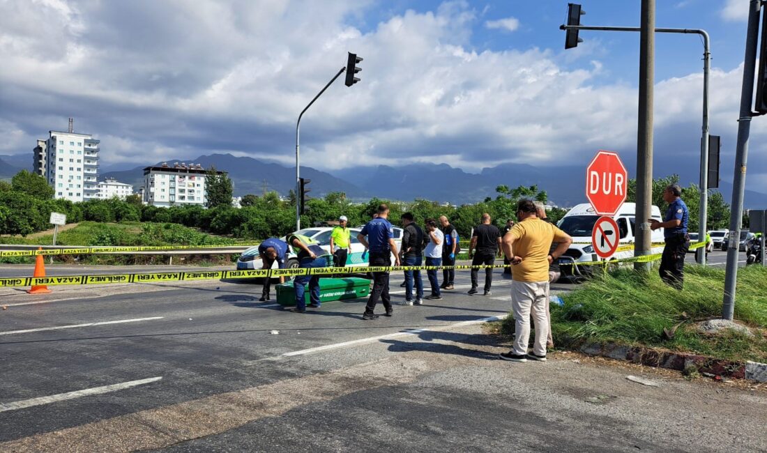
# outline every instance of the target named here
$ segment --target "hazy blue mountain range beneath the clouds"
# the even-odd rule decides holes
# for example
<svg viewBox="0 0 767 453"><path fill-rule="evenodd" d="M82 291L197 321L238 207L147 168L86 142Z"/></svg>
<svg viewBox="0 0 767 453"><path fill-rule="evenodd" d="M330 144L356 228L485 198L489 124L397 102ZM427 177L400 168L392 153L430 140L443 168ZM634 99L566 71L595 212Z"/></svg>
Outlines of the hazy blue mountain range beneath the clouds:
<svg viewBox="0 0 767 453"><path fill-rule="evenodd" d="M28 154L0 155L0 178L8 179L20 169L31 169L31 161ZM185 161L174 159L166 162L170 166L175 162L198 163L204 168L215 166L216 169L228 172L235 195L260 194L264 189L288 195L295 186L295 167L250 157L211 154ZM162 163L155 162L150 165L160 166ZM146 166L149 165L131 169L110 166L108 168L115 170L100 173L100 179L114 178L139 189L143 185L143 169ZM683 169L683 174L680 174L683 185L696 180L693 167ZM685 174L685 171L690 174ZM556 205L572 206L586 202L583 166L535 167L505 163L486 167L479 173L469 173L446 163L416 163L398 167L359 166L336 170L332 174L302 166L301 176L311 180L308 185L311 189L310 196L321 197L328 192L345 192L349 199L355 201L367 201L377 196L381 199L430 199L461 204L495 197L495 188L499 185L508 185L511 188L518 185L538 185L539 189L548 192L548 199ZM720 182L719 191L729 202L732 184ZM767 194L746 190L745 205L746 208L765 208Z"/></svg>

